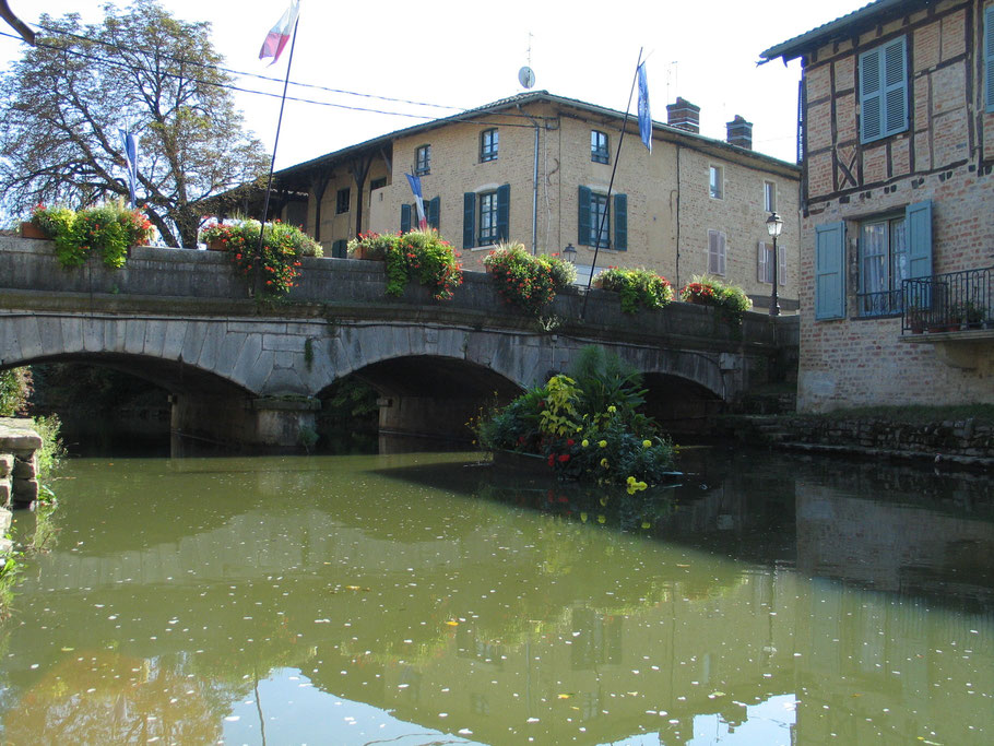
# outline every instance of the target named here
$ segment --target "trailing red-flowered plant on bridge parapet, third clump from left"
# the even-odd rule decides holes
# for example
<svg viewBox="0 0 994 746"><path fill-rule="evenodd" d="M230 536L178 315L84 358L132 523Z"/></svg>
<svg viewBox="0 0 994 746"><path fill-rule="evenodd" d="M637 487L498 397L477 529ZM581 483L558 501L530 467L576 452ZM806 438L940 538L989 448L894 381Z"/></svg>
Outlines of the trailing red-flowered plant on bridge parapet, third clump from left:
<svg viewBox="0 0 994 746"><path fill-rule="evenodd" d="M399 297L412 280L431 291L436 300L449 300L462 284L459 254L434 228L404 234L360 234L348 242L352 256L380 258L387 265L387 295Z"/></svg>

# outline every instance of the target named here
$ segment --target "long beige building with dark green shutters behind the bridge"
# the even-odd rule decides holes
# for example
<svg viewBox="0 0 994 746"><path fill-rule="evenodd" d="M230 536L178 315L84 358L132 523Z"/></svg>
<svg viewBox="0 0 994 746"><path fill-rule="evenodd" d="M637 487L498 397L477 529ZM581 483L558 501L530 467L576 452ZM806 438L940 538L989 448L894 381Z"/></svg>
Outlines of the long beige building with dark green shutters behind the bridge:
<svg viewBox="0 0 994 746"><path fill-rule="evenodd" d="M585 281L606 206L599 269L647 267L674 284L710 271L762 309L772 280L772 209L784 221L780 303L796 310L800 168L754 152L752 125L741 117L725 142L699 133L693 104L667 108L671 123L653 123L651 154L631 117L618 156L622 113L521 94L279 171L289 196L283 216L305 225L326 254L343 256L357 233L416 226L404 175L417 175L428 222L462 251L465 269L483 269L499 240L536 253L571 246Z"/></svg>

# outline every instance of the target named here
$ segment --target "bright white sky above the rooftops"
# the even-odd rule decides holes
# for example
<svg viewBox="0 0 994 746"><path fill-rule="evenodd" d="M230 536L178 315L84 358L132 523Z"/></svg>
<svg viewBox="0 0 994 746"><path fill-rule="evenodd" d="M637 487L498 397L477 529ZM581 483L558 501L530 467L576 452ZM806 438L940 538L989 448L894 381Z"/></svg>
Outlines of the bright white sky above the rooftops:
<svg viewBox="0 0 994 746"><path fill-rule="evenodd" d="M34 24L43 12L103 16L102 2L10 0ZM118 2L118 5L126 3ZM267 68L258 59L267 32L288 0L162 0L177 17L209 21L228 67L282 79L288 50ZM756 67L759 52L862 5L866 0L303 0L292 82L341 91L472 108L522 91L518 70L529 61L534 90L624 110L644 48L653 119L666 120L677 95L701 107L702 134L724 139L736 114L754 122L757 151L795 157L797 61ZM9 31L0 23L3 31ZM0 37L0 66L24 45ZM281 83L241 78L239 86L280 93ZM276 167L454 114L363 96L295 88L291 95L340 106L288 102ZM237 94L248 127L271 149L279 99ZM636 107L632 103L631 111Z"/></svg>

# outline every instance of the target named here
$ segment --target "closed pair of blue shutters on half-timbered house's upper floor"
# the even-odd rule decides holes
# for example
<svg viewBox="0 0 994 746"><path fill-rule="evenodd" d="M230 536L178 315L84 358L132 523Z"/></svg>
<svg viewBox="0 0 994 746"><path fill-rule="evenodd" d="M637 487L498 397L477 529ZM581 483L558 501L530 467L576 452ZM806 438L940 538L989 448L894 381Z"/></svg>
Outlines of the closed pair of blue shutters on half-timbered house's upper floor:
<svg viewBox="0 0 994 746"><path fill-rule="evenodd" d="M908 129L907 39L860 55L860 141L873 142Z"/></svg>

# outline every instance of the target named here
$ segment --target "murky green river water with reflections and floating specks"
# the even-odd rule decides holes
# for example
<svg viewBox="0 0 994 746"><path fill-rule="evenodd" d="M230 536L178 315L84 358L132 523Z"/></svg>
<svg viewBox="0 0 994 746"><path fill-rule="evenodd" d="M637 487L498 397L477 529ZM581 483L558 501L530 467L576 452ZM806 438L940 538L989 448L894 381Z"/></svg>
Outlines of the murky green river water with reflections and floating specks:
<svg viewBox="0 0 994 746"><path fill-rule="evenodd" d="M4 739L991 741L981 482L710 453L602 504L465 462L74 462Z"/></svg>

